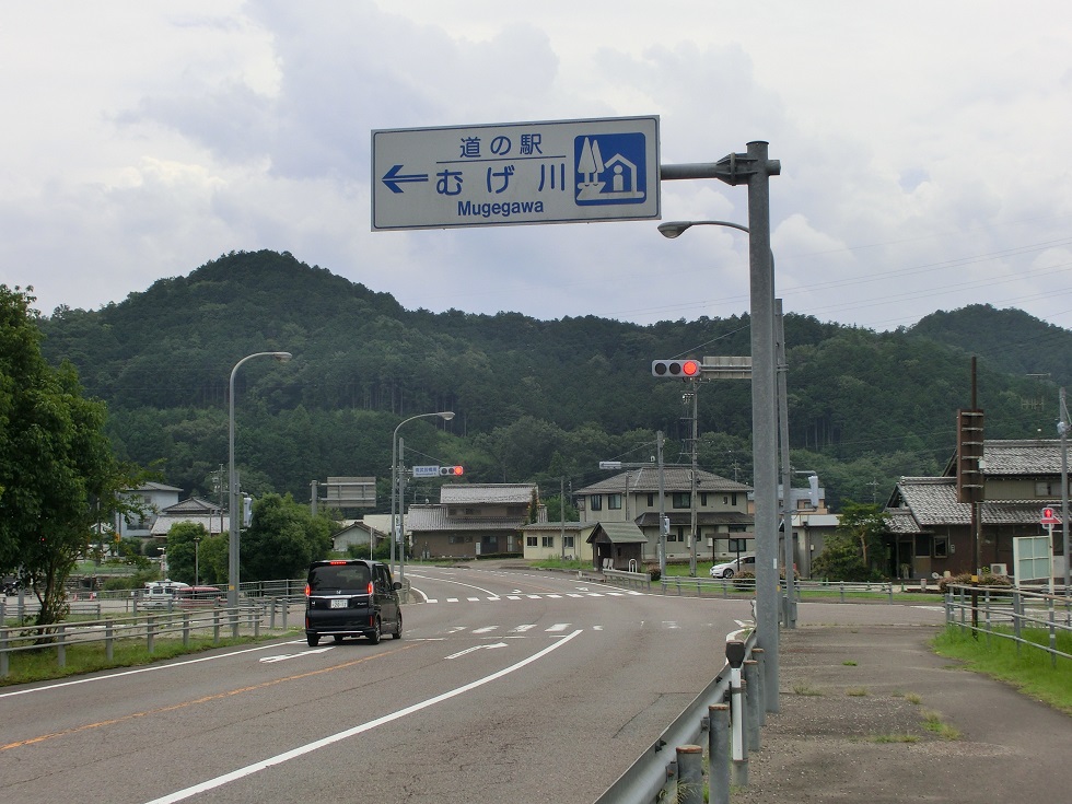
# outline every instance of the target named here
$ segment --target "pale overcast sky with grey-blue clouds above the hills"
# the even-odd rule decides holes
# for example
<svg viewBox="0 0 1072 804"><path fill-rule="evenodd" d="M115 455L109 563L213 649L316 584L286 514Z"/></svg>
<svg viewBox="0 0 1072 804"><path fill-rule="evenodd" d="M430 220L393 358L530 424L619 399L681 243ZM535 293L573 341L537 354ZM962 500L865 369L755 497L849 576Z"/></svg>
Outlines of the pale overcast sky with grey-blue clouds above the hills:
<svg viewBox="0 0 1072 804"><path fill-rule="evenodd" d="M1072 328L1068 0L35 0L0 65L0 282L46 314L260 248L410 310L747 312L730 229L371 231L373 129L657 115L663 164L770 143L786 312ZM747 189L664 182L662 219Z"/></svg>

